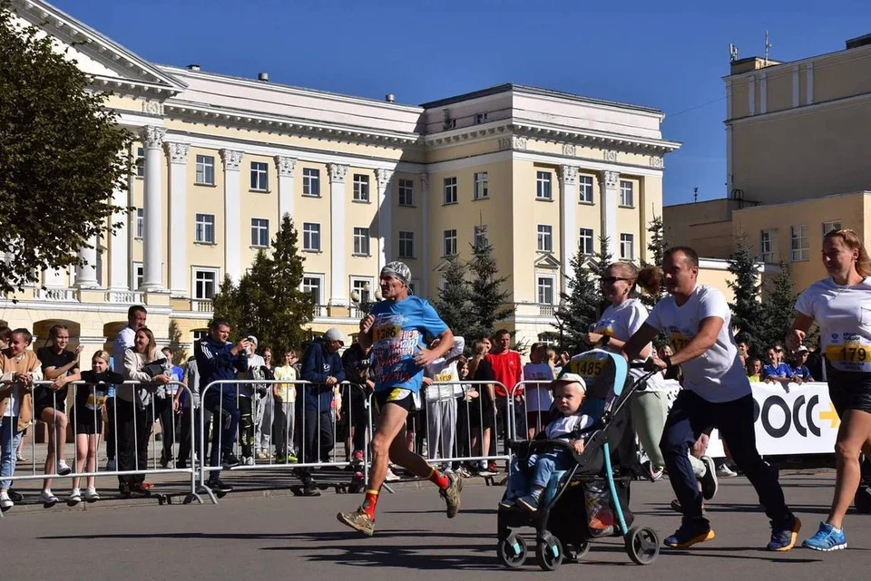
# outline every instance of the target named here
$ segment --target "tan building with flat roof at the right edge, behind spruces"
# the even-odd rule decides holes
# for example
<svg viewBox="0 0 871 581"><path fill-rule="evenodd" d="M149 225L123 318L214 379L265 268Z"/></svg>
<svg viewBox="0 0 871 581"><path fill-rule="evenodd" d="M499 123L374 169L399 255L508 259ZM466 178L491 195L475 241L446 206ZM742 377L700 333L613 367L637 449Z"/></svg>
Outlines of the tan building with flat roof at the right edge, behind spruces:
<svg viewBox="0 0 871 581"><path fill-rule="evenodd" d="M666 235L723 258L744 233L802 290L826 276L819 257L829 230L853 228L871 242L871 35L791 63L738 60L724 81L729 198L664 208Z"/></svg>

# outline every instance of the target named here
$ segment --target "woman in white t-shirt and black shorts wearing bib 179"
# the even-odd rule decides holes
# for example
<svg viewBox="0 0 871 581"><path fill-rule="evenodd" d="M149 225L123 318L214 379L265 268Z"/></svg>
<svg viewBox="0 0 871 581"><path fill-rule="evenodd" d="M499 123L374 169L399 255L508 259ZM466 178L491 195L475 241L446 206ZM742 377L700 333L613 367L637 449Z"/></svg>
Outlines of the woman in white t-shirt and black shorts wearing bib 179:
<svg viewBox="0 0 871 581"><path fill-rule="evenodd" d="M871 259L856 232L834 230L823 238L823 266L830 277L798 296L787 346L798 349L817 321L828 392L841 426L835 499L826 522L803 546L830 551L847 547L842 524L859 486L859 452L871 439Z"/></svg>

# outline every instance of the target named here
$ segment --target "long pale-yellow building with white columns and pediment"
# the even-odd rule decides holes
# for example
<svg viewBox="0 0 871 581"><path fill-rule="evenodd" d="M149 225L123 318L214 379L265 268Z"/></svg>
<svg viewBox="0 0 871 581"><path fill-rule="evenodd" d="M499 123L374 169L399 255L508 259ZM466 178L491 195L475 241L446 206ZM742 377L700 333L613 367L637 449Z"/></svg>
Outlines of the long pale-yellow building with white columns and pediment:
<svg viewBox="0 0 871 581"><path fill-rule="evenodd" d="M351 299L387 261L405 261L431 296L445 257L486 236L517 307L505 324L536 340L553 333L579 244L592 254L604 235L615 257L647 254L663 157L679 147L662 139L661 111L514 84L421 106L302 89L148 63L52 5L13 6L113 93L139 162L114 193L134 208L113 218L122 228L82 250L90 266L0 301L10 326L44 338L65 322L99 345L141 303L161 341L174 322L191 344L222 277L244 274L286 212L316 333L356 331Z"/></svg>

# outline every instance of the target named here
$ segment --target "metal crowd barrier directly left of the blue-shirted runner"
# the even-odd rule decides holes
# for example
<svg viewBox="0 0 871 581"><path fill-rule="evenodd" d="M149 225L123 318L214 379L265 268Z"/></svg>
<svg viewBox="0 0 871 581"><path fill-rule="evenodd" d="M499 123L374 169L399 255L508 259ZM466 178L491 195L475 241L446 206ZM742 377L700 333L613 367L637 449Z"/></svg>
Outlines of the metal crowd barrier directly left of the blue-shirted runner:
<svg viewBox="0 0 871 581"><path fill-rule="evenodd" d="M275 458L270 454L268 459L264 459L268 461L258 463L254 457L254 445L256 443L255 406L257 405L256 400L259 400L259 394L256 393L256 387L254 386L265 386L266 389L274 389L275 386L283 388L286 385L292 385L294 389L298 386L302 388L298 390L294 402L282 402L280 409L284 417L279 417L279 420L287 421L287 430L279 428L279 434L283 441L273 443L279 444L280 448L286 451L286 454L284 458ZM354 459L353 453L344 460L340 459L338 455L339 441L337 433L341 406L334 403L338 403L334 388L338 388L339 396L346 397L349 400L347 405L348 426L359 428L361 423L359 421L355 422L355 420L360 411L354 409L355 406L350 404L350 400L354 397L353 393L357 392L359 396L358 401L363 402L364 410L368 406L368 402L365 389L357 383L340 382L335 386L327 386L323 383L306 381L261 379L210 382L201 392L199 442L200 450L205 452L209 442L208 433L210 428L205 414L211 412L213 418L211 422L211 451L208 463L205 461L206 455L203 453L204 461L200 464L200 488L198 489L208 494L212 501L217 502L217 498L210 489L208 482L212 481L212 475L220 472L220 470L276 470L284 468L304 470L302 472L303 478L307 478L310 476L311 469L347 467ZM313 398L314 402L316 402L316 405L313 407L308 405L307 398L311 394L311 390L318 390L315 394L316 397ZM328 398L323 397L326 394L329 394ZM325 405L322 402L324 399L328 399L331 404L329 406ZM250 423L245 419L249 413ZM367 414L367 411L364 413ZM274 420L275 418L273 418L273 429L275 427ZM364 429L364 445L362 450L350 450L362 452L359 464L361 471L364 472L364 479L368 477L368 444L371 436L366 432L370 432L367 430L369 425L367 421L362 423ZM294 432L296 432L298 437L294 437ZM227 441L228 439L230 439L229 442ZM292 453L292 445L295 442L299 444L296 456ZM315 448L315 450L312 450L312 448ZM238 459L236 457L239 456L241 456L242 461L237 463ZM230 466L230 464L232 465ZM217 479L217 476L214 479Z"/></svg>

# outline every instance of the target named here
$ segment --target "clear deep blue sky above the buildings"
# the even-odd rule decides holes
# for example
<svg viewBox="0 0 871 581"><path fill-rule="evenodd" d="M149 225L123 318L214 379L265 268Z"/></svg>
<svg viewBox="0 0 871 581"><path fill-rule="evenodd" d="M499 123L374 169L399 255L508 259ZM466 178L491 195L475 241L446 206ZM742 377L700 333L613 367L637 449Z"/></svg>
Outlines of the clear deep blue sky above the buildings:
<svg viewBox="0 0 871 581"><path fill-rule="evenodd" d="M665 111L664 201L725 192L729 43L791 61L871 33L871 2L833 0L54 0L155 63L419 104L503 82Z"/></svg>

